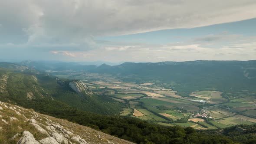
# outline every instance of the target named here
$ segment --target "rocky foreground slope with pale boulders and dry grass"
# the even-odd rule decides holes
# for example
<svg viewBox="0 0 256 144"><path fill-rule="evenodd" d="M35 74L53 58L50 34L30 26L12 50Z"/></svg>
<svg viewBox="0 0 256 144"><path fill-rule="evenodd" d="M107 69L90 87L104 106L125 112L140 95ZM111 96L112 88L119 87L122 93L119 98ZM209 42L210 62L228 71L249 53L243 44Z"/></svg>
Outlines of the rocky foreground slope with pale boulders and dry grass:
<svg viewBox="0 0 256 144"><path fill-rule="evenodd" d="M0 101L1 144L132 144L79 124Z"/></svg>

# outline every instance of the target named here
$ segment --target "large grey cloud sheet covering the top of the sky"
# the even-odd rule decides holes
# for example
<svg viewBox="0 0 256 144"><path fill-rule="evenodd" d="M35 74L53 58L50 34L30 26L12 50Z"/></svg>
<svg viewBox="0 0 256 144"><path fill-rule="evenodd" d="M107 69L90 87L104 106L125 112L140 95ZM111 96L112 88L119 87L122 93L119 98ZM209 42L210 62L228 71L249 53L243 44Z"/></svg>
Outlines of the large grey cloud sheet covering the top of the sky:
<svg viewBox="0 0 256 144"><path fill-rule="evenodd" d="M2 34L28 43L87 44L92 36L246 20L255 7L255 0L1 0L0 22Z"/></svg>

